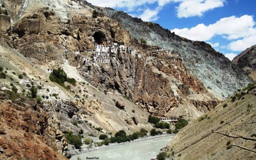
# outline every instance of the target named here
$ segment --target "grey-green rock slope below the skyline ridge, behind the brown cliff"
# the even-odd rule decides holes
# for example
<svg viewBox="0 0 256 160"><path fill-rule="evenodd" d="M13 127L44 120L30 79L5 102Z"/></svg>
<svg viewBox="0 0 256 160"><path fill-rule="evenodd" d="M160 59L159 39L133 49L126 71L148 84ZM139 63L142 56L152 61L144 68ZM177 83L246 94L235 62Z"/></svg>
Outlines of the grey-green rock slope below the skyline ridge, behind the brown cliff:
<svg viewBox="0 0 256 160"><path fill-rule="evenodd" d="M124 12L109 8L104 8L103 12L117 19L132 37L144 38L147 44L178 51L192 75L196 76L204 86L211 87L214 92L224 98L238 88L244 87L244 84L252 82L241 69L233 65L223 54L212 49L209 44L177 36L158 24L143 22Z"/></svg>

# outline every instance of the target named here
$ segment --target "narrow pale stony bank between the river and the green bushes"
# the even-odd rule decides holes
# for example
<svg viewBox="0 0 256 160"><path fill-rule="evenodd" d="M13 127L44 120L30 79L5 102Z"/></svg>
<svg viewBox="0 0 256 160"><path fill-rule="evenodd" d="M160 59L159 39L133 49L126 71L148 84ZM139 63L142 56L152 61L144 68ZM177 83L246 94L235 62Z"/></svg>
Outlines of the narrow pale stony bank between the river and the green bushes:
<svg viewBox="0 0 256 160"><path fill-rule="evenodd" d="M74 156L74 155L78 155L78 154L81 154L81 153L86 153L86 152L91 152L91 151L95 151L95 150L99 150L101 148L108 148L108 147L112 147L112 146L118 146L118 145L123 145L123 144L126 144L126 143L133 143L133 142L138 142L138 141L143 141L143 140L150 140L150 139L155 139L155 138L161 138L161 137L167 137L167 136L173 136L175 134L161 134L161 135L156 135L156 136L145 136L145 137L140 137L136 140L133 140L133 141L127 141L127 142L123 142L123 143L109 143L108 146L105 146L105 145L102 145L102 146L97 146L97 147L92 147L92 148L87 148L87 145L83 145L81 147L81 151L79 151L79 149L73 149L73 150L69 150L68 153L71 155L71 156Z"/></svg>

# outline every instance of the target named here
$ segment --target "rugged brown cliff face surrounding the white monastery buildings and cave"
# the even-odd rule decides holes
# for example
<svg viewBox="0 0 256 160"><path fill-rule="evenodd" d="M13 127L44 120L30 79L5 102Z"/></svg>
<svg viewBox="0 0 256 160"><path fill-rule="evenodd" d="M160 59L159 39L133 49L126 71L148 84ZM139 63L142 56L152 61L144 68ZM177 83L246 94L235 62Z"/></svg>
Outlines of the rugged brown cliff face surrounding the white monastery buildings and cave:
<svg viewBox="0 0 256 160"><path fill-rule="evenodd" d="M7 31L11 36L5 37L5 41L43 68L54 68L68 62L102 92L119 90L155 115L166 116L182 104L194 106L196 113L186 113L187 111L183 110L176 112L174 116L186 115L189 119L194 119L207 111L202 108L211 109L213 104L219 102L214 94L206 93L204 84L192 75L180 57L180 51L173 50L173 54L168 56L164 55L164 52L154 53L152 60L140 60L128 52L118 52L116 56L111 57L110 65L101 64L92 68L84 66L81 56L92 56L88 49L95 49L94 42L125 44L140 50L144 57L149 55L150 47L132 38L133 35L131 36L118 20L105 17L101 8L86 2L73 1L72 5L67 5L75 8L70 9L70 14L63 16L62 11L56 8L64 10L64 4L57 6L53 2L45 4L40 1L38 4L35 1L26 1L23 6L16 7L23 10L12 17L15 20L13 28ZM78 6L83 8L80 12L84 15L77 14ZM17 12L15 9L8 10ZM93 10L98 11L97 18L92 17ZM68 20L63 17L68 17ZM168 36L182 39L172 33ZM78 50L80 54L75 54ZM195 94L208 96L200 100L201 97L196 97ZM190 100L191 98L193 100ZM210 102L211 100L215 103ZM194 101L203 105L195 106L199 103Z"/></svg>

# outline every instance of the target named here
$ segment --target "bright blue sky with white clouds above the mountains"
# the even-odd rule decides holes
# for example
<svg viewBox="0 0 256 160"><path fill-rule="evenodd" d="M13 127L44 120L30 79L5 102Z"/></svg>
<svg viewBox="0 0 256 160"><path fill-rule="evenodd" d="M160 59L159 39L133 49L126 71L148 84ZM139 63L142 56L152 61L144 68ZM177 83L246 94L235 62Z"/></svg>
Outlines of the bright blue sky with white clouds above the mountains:
<svg viewBox="0 0 256 160"><path fill-rule="evenodd" d="M256 0L87 0L204 41L232 60L256 44Z"/></svg>

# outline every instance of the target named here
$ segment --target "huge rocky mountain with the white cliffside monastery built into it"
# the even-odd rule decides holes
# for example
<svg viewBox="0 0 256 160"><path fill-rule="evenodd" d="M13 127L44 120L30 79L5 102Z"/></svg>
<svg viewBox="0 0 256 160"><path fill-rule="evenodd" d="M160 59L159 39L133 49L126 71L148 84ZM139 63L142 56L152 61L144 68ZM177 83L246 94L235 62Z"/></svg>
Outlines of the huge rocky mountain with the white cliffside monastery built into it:
<svg viewBox="0 0 256 160"><path fill-rule="evenodd" d="M21 95L2 96L1 105L14 108L13 113L32 112L31 106L20 110L17 105L27 106L31 85L36 86L40 109L34 108L33 114L44 117L44 132L48 126L57 128L58 134L67 130L78 134L82 129L84 135L96 136L121 129L127 133L150 130L149 114L183 115L193 121L252 82L209 44L177 36L124 12L84 0L0 0L0 4L0 87L3 94ZM97 53L98 44L116 51ZM99 54L104 61L97 60ZM62 68L76 84L50 81L54 68ZM9 99L14 103L11 106ZM8 128L10 117L3 118L8 132L29 131L41 139L40 144L68 154L69 148L53 138L57 130L51 131L54 143L50 143L47 134L38 132L40 123L30 132L26 127ZM24 116L17 117L17 123L23 121ZM5 136L10 144L17 139ZM34 140L30 143L36 148ZM1 153L6 157L15 149L5 144ZM48 151L49 157L60 156ZM19 156L12 153L11 157Z"/></svg>

